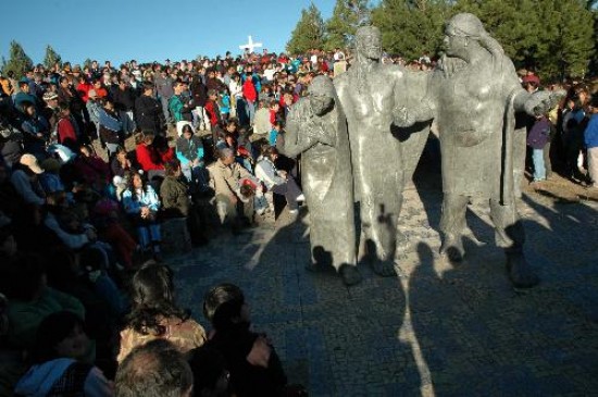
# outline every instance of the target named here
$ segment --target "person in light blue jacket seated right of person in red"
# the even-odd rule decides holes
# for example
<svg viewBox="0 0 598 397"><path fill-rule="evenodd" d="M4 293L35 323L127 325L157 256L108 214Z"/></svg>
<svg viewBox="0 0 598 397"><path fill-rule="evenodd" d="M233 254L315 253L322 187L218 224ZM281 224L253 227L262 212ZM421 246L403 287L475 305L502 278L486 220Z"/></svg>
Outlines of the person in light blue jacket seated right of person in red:
<svg viewBox="0 0 598 397"><path fill-rule="evenodd" d="M183 126L183 135L176 140L176 158L191 186L204 190L208 187L208 181L203 164L203 144L199 136L194 135L190 124Z"/></svg>

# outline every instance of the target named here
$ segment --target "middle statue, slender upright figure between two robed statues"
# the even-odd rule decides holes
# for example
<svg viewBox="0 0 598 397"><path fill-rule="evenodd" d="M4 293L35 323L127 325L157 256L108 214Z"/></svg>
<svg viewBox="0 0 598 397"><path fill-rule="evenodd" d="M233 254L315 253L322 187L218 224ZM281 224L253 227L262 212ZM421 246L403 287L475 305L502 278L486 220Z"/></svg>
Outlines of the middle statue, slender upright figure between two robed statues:
<svg viewBox="0 0 598 397"><path fill-rule="evenodd" d="M391 276L400 239L397 223L402 190L412 172L406 165L413 164L414 169L427 137L426 128L420 134L423 139L401 142L391 128L393 111L425 95L427 74L382 64L382 35L373 26L357 30L356 52L357 62L334 82L347 115L358 224L365 238L360 257L364 253L377 274ZM407 161L411 156L415 161Z"/></svg>

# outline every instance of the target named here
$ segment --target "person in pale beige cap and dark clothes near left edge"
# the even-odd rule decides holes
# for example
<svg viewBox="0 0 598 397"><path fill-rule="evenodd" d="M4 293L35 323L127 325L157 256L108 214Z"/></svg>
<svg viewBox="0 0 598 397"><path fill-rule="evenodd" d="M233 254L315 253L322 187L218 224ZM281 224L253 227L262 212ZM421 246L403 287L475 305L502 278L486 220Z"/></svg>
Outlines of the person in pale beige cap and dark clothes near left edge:
<svg viewBox="0 0 598 397"><path fill-rule="evenodd" d="M39 166L35 156L25 153L15 164L11 175L11 183L18 195L28 204L43 206L46 195L39 185L38 176L43 170Z"/></svg>

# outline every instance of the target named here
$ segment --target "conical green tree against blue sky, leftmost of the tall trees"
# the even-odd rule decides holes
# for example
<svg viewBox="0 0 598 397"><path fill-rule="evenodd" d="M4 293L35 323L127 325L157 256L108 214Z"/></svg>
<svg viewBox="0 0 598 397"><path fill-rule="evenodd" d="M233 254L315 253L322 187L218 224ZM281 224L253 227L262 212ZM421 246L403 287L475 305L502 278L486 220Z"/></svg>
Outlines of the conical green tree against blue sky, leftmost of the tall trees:
<svg viewBox="0 0 598 397"><path fill-rule="evenodd" d="M322 13L312 2L306 10L301 10L301 18L295 26L287 42L287 51L292 54L306 53L312 48L323 48L324 20Z"/></svg>

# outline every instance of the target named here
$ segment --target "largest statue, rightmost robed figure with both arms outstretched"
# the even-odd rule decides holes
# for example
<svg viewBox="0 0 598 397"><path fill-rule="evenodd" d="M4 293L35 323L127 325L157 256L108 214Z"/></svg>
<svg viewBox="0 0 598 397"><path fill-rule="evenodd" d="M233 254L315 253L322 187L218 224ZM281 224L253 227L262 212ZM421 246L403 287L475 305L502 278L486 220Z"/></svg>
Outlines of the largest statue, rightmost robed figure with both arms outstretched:
<svg viewBox="0 0 598 397"><path fill-rule="evenodd" d="M538 277L523 253L525 233L513 189L514 112L539 114L558 98L525 91L502 47L473 14L449 21L444 47L427 97L395 113L398 125L431 119L438 125L444 191L440 251L453 262L463 259L468 202L474 196L487 198L509 278L515 287L532 287Z"/></svg>

